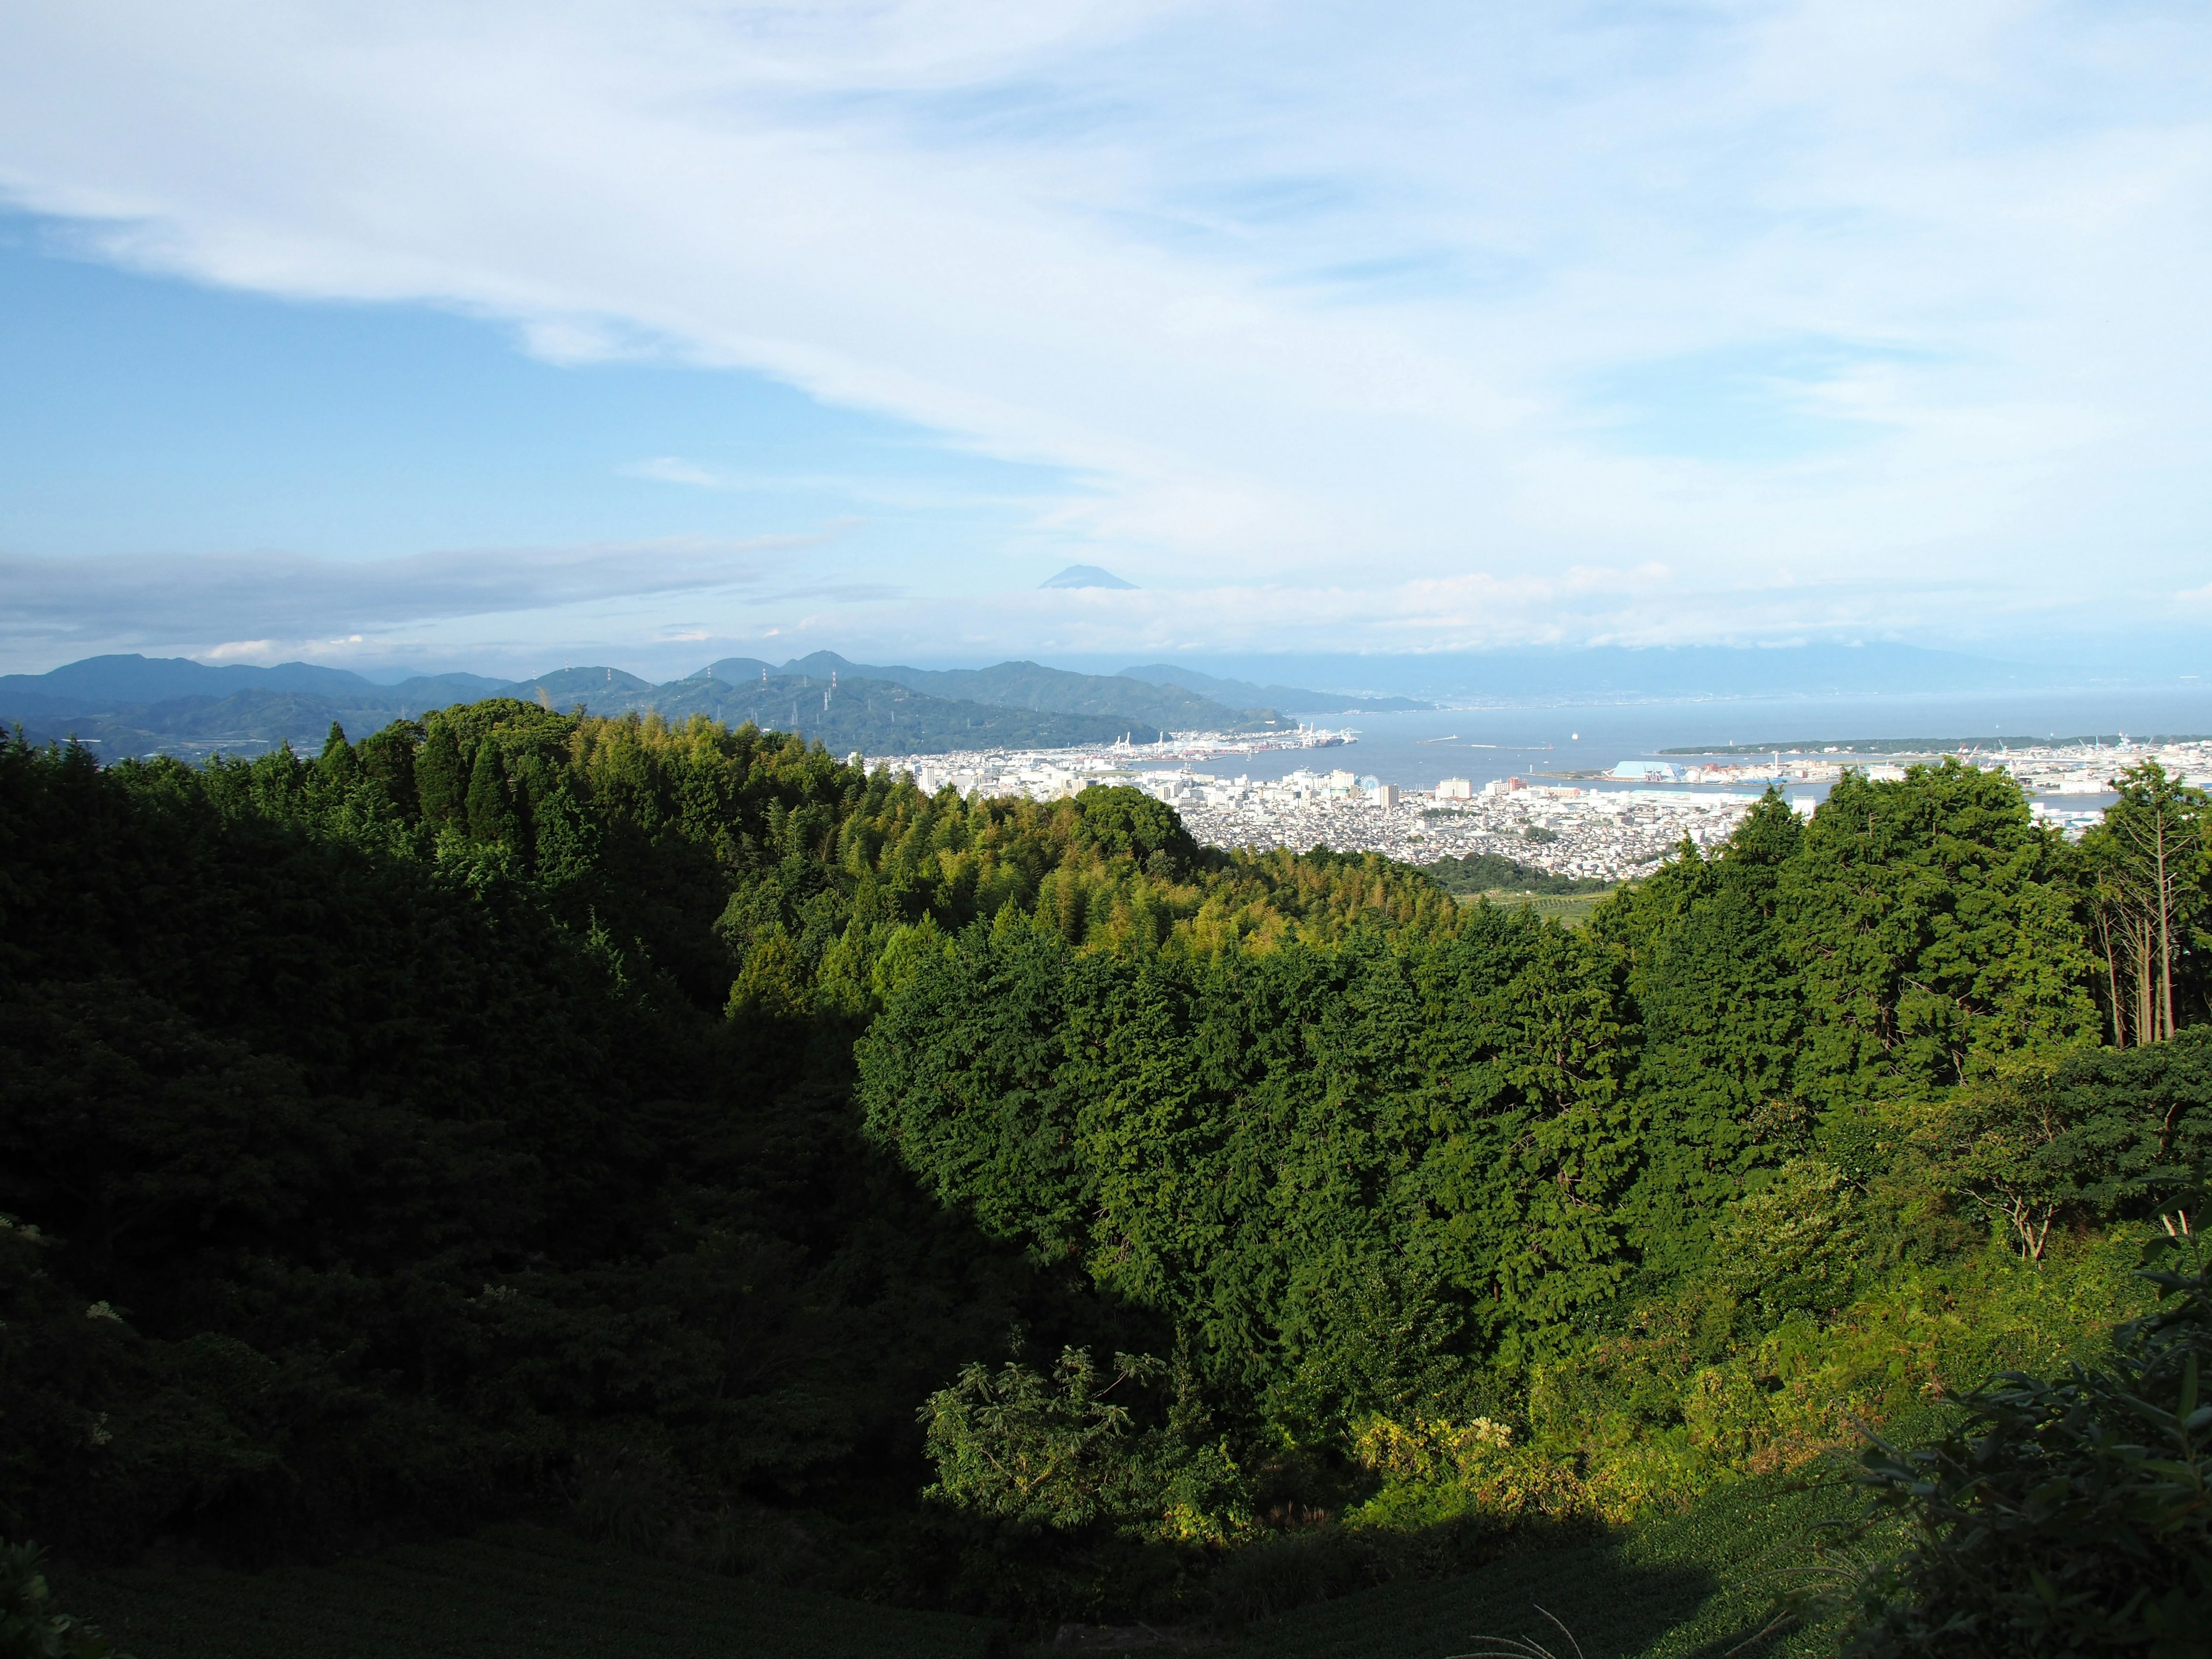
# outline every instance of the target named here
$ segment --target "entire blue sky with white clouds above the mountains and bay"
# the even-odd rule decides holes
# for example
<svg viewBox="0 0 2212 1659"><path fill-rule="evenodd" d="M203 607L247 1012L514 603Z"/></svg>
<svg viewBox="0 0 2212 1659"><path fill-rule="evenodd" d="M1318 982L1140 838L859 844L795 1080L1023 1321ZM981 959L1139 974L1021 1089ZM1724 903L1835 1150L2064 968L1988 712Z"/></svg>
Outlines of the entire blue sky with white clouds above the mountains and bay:
<svg viewBox="0 0 2212 1659"><path fill-rule="evenodd" d="M20 13L0 668L2185 639L2205 111L2201 4Z"/></svg>

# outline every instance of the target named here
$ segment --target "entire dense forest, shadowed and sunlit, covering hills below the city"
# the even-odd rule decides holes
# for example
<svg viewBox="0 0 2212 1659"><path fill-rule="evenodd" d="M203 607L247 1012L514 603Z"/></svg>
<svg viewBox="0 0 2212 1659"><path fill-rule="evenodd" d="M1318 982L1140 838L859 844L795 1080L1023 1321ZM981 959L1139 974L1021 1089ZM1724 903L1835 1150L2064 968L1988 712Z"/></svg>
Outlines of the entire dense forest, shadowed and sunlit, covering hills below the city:
<svg viewBox="0 0 2212 1659"><path fill-rule="evenodd" d="M706 717L18 741L0 1533L265 1562L560 1515L869 1599L1237 1617L1869 1425L1924 1509L2006 1367L2185 1360L2201 1433L2201 1279L2130 1270L2212 1141L2205 818L2157 768L2079 845L2000 774L1847 776L1568 931ZM2004 1409L2051 1451L2064 1411ZM2203 1548L2168 1509L2143 1573ZM1986 1650L1900 1613L1955 1562L1891 1555L1869 1650ZM2157 1590L2112 1613L2143 1641L2212 1608Z"/></svg>

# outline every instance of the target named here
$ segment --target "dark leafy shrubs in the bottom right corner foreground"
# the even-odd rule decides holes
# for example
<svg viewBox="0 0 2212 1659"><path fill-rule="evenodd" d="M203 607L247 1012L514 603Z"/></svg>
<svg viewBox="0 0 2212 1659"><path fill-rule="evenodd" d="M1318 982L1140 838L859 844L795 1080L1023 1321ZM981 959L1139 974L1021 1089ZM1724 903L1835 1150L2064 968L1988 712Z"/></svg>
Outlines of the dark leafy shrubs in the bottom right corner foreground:
<svg viewBox="0 0 2212 1659"><path fill-rule="evenodd" d="M2212 1279L2188 1232L2152 1259L2159 1310L2110 1363L2002 1376L1936 1444L1867 1453L1913 1535L1867 1586L1854 1652L2212 1646Z"/></svg>

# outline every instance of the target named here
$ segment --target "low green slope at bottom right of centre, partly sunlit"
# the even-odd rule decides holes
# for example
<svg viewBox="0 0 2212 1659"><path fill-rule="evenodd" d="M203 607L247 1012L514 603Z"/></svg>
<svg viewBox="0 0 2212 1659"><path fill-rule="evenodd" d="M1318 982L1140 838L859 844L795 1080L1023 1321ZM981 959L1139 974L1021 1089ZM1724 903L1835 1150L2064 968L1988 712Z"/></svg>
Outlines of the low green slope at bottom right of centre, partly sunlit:
<svg viewBox="0 0 2212 1659"><path fill-rule="evenodd" d="M1719 1659L1767 1619L1812 1559L1823 1520L1858 1513L1840 1478L1747 1482L1610 1542L1531 1551L1451 1579L1385 1584L1256 1626L1245 1655L1265 1659L1447 1659L1480 1637L1535 1641L1568 1659ZM1827 1630L1785 1630L1745 1655L1829 1655Z"/></svg>

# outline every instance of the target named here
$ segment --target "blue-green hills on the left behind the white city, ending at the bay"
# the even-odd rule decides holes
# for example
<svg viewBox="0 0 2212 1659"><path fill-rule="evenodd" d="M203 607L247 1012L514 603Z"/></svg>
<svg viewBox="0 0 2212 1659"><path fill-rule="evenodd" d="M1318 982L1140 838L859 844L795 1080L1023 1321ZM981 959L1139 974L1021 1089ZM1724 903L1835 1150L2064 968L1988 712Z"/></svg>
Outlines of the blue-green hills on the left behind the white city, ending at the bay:
<svg viewBox="0 0 2212 1659"><path fill-rule="evenodd" d="M593 714L708 714L794 730L836 752L929 754L953 748L1064 748L1170 730L1272 730L1276 708L1234 708L1175 684L1071 675L1037 664L929 670L852 664L816 653L783 666L728 657L655 686L619 668L562 668L535 679L422 675L380 686L345 668L208 666L184 657L88 657L46 675L0 677L0 723L33 741L71 737L106 757L215 748L321 745L332 723L352 734L429 708L518 697Z"/></svg>

